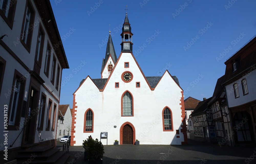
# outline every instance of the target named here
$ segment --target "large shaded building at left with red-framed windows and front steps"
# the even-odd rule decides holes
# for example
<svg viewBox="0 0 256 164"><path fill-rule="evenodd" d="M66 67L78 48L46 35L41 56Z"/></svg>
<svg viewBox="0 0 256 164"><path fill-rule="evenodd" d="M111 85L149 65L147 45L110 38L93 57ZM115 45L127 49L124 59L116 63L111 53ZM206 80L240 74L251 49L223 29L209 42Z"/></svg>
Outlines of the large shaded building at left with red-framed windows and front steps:
<svg viewBox="0 0 256 164"><path fill-rule="evenodd" d="M8 136L0 156L8 150L1 158L6 163L28 147L56 146L61 74L69 65L49 1L0 2L0 121L1 136Z"/></svg>

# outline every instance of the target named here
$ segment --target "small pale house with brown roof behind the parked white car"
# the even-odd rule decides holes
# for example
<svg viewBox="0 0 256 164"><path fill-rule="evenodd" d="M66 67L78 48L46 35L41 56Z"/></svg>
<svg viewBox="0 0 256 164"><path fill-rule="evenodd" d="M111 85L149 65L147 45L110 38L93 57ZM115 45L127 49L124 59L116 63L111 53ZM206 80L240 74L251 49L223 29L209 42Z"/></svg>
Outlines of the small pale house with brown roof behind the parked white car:
<svg viewBox="0 0 256 164"><path fill-rule="evenodd" d="M71 122L72 115L69 104L59 105L57 141L59 141L62 136L71 135Z"/></svg>

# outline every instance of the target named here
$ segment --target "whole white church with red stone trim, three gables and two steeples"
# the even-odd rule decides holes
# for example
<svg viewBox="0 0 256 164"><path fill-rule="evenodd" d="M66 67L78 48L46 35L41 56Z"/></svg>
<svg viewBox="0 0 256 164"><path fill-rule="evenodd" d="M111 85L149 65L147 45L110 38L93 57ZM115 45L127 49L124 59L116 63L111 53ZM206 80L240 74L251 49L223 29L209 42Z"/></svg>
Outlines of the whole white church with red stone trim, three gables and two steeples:
<svg viewBox="0 0 256 164"><path fill-rule="evenodd" d="M183 90L176 76L146 77L132 53L132 32L126 13L121 54L109 38L101 78L82 79L73 93L71 146L88 136L103 145L186 145Z"/></svg>

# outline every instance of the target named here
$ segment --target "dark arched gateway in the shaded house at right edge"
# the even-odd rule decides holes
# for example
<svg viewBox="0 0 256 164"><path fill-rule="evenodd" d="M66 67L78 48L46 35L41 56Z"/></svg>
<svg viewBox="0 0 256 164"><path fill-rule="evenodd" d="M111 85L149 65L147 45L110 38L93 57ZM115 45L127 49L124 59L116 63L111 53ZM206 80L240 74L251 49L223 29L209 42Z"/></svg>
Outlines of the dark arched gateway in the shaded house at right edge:
<svg viewBox="0 0 256 164"><path fill-rule="evenodd" d="M247 111L237 112L234 115L234 124L238 143L242 144L254 142L252 120Z"/></svg>

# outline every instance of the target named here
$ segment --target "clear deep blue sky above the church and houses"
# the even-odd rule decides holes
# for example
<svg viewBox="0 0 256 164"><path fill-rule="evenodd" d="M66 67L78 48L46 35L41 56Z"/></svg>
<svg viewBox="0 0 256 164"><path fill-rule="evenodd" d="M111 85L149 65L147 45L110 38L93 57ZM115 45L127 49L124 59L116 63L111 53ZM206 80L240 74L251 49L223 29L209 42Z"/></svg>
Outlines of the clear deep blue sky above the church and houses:
<svg viewBox="0 0 256 164"><path fill-rule="evenodd" d="M211 97L225 74L224 62L256 34L255 0L50 2L70 67L62 72L60 104L71 108L80 81L101 78L109 24L119 57L126 5L133 54L143 73L162 76L167 68L185 99Z"/></svg>

